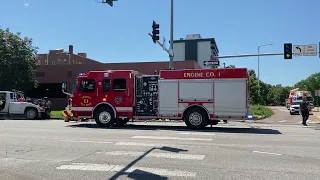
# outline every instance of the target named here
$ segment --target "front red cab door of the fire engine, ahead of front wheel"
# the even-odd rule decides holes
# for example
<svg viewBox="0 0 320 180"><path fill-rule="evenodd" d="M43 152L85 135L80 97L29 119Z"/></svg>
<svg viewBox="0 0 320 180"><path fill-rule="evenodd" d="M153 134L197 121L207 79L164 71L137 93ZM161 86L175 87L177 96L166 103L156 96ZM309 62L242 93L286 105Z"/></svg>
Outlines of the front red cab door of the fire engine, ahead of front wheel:
<svg viewBox="0 0 320 180"><path fill-rule="evenodd" d="M91 116L94 105L97 101L97 80L84 78L79 82L79 91L74 93L77 101L72 101L76 107L78 116Z"/></svg>

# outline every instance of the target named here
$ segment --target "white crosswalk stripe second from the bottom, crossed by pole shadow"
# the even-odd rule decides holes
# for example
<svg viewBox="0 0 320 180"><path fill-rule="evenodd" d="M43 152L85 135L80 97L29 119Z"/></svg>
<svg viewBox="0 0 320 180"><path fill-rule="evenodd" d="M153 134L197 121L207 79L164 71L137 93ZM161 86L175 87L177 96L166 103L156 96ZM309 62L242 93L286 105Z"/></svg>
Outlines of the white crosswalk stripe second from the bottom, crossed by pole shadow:
<svg viewBox="0 0 320 180"><path fill-rule="evenodd" d="M97 152L96 154L110 155L110 156L132 156L139 157L145 152L128 152L128 151L110 151ZM181 154L181 153L156 153L150 152L146 157L167 158L167 159L188 159L188 160L203 160L205 155L198 154Z"/></svg>

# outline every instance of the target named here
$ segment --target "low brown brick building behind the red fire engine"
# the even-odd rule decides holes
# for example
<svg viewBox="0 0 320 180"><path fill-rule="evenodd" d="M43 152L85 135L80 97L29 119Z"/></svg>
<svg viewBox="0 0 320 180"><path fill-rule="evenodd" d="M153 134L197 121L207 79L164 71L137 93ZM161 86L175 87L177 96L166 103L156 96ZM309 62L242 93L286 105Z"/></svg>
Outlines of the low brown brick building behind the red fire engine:
<svg viewBox="0 0 320 180"><path fill-rule="evenodd" d="M132 62L132 63L101 63L87 57L86 53L74 53L73 46L68 52L63 49L50 50L47 54L38 54L36 79L39 87L26 93L32 98L48 97L53 109L64 109L67 97L61 92L61 83L66 82L71 91L75 78L79 73L92 70L133 69L145 74L168 69L169 62ZM198 69L194 60L176 61L175 69Z"/></svg>

